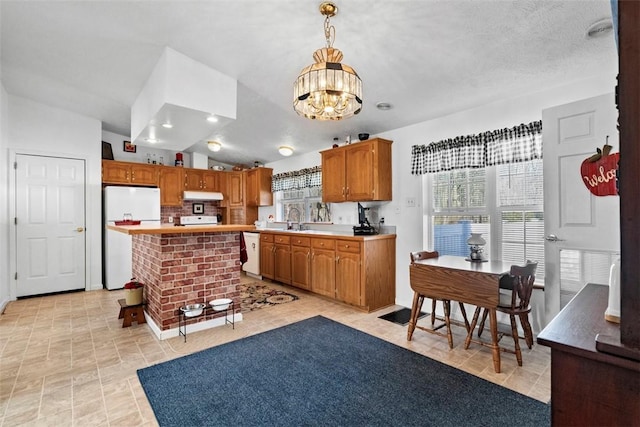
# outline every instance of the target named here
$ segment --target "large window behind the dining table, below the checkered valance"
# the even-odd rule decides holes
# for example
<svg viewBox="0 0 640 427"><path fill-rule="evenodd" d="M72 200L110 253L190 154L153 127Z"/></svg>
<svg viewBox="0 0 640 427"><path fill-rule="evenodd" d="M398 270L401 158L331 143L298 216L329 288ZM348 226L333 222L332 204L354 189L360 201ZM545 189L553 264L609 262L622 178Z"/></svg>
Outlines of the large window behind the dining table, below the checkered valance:
<svg viewBox="0 0 640 427"><path fill-rule="evenodd" d="M544 283L541 159L424 177L432 199L425 241L432 236L434 250L467 256L470 233L482 233L489 257L513 264L538 261L536 277Z"/></svg>

